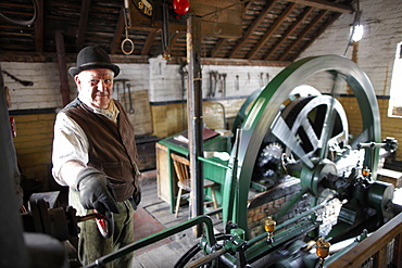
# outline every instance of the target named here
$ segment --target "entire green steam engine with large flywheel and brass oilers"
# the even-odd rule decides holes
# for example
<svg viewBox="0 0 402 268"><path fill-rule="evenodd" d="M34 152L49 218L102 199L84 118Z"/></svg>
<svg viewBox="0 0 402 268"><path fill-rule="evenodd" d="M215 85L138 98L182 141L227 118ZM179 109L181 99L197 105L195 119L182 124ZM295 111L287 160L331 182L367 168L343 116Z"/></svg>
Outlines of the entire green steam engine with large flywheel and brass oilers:
<svg viewBox="0 0 402 268"><path fill-rule="evenodd" d="M344 92L355 104L348 113L339 101ZM357 117L352 126L351 113ZM324 258L328 264L342 254L327 256L328 241L363 238L401 212L392 203L393 186L376 180L381 149L392 152L397 141L381 140L373 86L346 58L292 63L250 97L234 130L230 159L221 163L225 178L216 178L225 232L211 234L206 216L168 230L183 230L197 219L209 230L176 267L319 267ZM287 188L280 186L291 183L297 190L284 197ZM252 191L256 197L250 199ZM328 204L338 204L339 210L324 226ZM251 231L255 222L260 232ZM322 255L311 253L312 241ZM199 253L203 256L191 263Z"/></svg>

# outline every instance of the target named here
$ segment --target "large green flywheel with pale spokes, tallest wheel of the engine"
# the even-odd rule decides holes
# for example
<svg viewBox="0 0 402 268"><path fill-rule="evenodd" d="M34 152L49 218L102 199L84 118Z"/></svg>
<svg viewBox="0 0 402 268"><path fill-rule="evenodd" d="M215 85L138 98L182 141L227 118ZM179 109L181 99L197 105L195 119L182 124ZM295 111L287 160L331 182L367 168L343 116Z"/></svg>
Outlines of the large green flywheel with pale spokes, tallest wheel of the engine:
<svg viewBox="0 0 402 268"><path fill-rule="evenodd" d="M281 116L279 111L282 110L282 103L292 90L301 84L307 84L309 79L316 76L330 77L331 88L327 89L327 94L325 94L328 97L322 95L315 100L304 100L307 106L306 110L300 109L293 117ZM323 163L330 162L328 161L327 144L330 144L330 141L334 140L334 136L331 136L335 128L334 118L344 116L342 110L339 109L340 104L336 101L341 86L348 86L353 91L362 117L362 129L350 142L352 150L356 150L359 142L380 141L380 117L376 94L367 75L355 63L339 55L313 56L292 63L264 88L241 125L240 135L237 137L238 143L234 146L231 161L229 162L231 170L227 173L225 180L224 221L235 222L240 228L248 230L249 187L257 152L267 133L279 140L287 151L294 155L300 165L303 166L303 174L311 174L309 179L314 180L314 176L321 173L323 165L327 169L329 167L330 170L332 170L331 166L335 165L336 171L336 163L330 165ZM318 104L314 104L314 101ZM304 118L303 113L306 114L305 112L314 110L317 105L325 105L328 112L322 120L322 135L318 137L307 135L307 139L312 144L314 143L314 146L312 152L306 152L300 143L300 137L294 129L292 130L291 126L300 127L301 120ZM286 118L288 118L288 122L286 122ZM344 123L346 120L342 118L341 122ZM289 120L293 123L289 124ZM348 126L342 126L340 132L343 130L347 131ZM339 135L342 139L346 139L348 133L344 132ZM372 170L374 177L377 171L377 149L374 149L374 151L366 149L364 166ZM311 183L314 184L315 182L312 181ZM304 184L309 183L304 182Z"/></svg>

